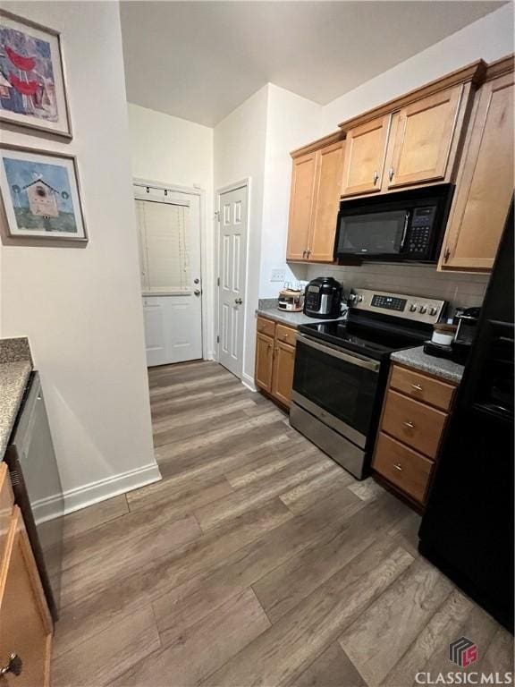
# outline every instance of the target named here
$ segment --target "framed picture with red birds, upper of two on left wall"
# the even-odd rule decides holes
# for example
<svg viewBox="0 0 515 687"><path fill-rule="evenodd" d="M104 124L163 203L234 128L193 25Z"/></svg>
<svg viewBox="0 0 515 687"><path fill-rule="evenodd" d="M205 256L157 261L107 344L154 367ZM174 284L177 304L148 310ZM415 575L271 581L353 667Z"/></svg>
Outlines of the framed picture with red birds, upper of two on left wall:
<svg viewBox="0 0 515 687"><path fill-rule="evenodd" d="M4 11L0 121L72 138L60 34Z"/></svg>

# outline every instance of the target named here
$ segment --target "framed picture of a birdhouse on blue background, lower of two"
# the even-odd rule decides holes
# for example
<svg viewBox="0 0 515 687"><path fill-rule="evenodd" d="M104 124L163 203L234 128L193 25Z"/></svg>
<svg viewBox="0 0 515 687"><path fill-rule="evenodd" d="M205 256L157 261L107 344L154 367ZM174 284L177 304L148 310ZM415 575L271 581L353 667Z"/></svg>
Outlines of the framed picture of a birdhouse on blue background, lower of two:
<svg viewBox="0 0 515 687"><path fill-rule="evenodd" d="M2 145L0 191L9 236L88 241L75 157Z"/></svg>

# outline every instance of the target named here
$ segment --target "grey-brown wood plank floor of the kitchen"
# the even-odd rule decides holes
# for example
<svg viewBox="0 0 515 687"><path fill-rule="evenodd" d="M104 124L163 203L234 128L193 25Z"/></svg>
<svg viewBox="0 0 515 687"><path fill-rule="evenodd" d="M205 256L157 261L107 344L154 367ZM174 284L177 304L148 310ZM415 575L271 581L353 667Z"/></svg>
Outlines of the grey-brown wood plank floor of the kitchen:
<svg viewBox="0 0 515 687"><path fill-rule="evenodd" d="M378 687L510 670L512 637L357 482L224 368L151 369L163 480L65 519L55 687Z"/></svg>

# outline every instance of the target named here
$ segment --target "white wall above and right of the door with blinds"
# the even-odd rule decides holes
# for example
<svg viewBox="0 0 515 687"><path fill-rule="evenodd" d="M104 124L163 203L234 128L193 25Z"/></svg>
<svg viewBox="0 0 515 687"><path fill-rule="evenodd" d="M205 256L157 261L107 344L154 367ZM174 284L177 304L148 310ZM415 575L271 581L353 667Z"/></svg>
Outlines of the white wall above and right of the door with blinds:
<svg viewBox="0 0 515 687"><path fill-rule="evenodd" d="M129 103L129 131L135 178L205 191L201 218L204 351L212 358L215 352L214 131L208 126L132 103Z"/></svg>

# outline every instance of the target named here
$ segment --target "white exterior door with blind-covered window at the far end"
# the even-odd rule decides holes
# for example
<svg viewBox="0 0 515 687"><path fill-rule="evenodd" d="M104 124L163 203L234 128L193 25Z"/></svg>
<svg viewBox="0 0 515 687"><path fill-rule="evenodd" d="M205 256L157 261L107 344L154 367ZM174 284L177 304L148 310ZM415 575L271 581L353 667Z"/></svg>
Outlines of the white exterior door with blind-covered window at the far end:
<svg viewBox="0 0 515 687"><path fill-rule="evenodd" d="M135 186L147 364L202 358L200 199Z"/></svg>

